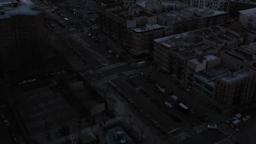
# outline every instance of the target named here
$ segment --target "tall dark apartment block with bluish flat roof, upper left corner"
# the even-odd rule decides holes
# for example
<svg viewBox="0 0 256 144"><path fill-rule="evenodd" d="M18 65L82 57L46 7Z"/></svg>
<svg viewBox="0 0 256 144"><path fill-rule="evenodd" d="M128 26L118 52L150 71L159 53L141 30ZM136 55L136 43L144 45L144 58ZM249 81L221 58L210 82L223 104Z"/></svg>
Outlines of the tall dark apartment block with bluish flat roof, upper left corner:
<svg viewBox="0 0 256 144"><path fill-rule="evenodd" d="M15 70L46 61L43 48L43 14L34 5L0 1L0 68Z"/></svg>

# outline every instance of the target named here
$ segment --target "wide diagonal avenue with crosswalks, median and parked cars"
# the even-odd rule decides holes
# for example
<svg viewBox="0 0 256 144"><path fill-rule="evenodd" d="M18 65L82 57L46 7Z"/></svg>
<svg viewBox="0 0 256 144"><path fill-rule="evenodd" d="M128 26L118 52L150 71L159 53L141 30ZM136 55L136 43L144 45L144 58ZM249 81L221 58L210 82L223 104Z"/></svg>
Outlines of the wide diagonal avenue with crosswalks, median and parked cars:
<svg viewBox="0 0 256 144"><path fill-rule="evenodd" d="M63 9L61 11L72 21L79 22L78 17L68 14L67 10ZM115 51L115 47L109 45L109 39L99 39L100 42L96 43L94 39L86 35L92 33L97 37L98 35L102 35L100 31L90 31L85 27L85 32L79 32L79 29L65 22L63 17L56 13L51 13L51 8L48 8L46 13L51 19L55 19L66 26L62 31L55 29L53 31L55 37L67 34L68 39L73 39L73 41L67 40L63 43L66 45L63 49L66 49L65 52L68 55L67 59L72 67L84 73L86 73L85 69L92 71L95 78L97 78L97 82L95 81L95 83L112 81L119 91L124 93L125 96L123 98L129 100L131 107L135 107L137 111L141 112L141 115L145 117L153 127L167 134L178 134L181 137L178 141L185 140L188 137L194 137L188 134L188 131L191 130L194 131L193 133L202 132L202 134L204 134L205 131L210 131L207 130L207 124L199 121L193 114L184 114L177 109L177 103L170 98L173 92L170 91L170 89L174 90L175 88L167 88L167 93L159 92L159 89L153 85L154 83L150 83L146 77L139 75L139 71L133 68L129 63L121 61L118 56L116 56L117 53L109 51ZM55 25L57 24L55 23ZM171 109L165 105L166 101L173 105ZM188 101L183 98L181 102L187 103ZM181 119L181 122L177 122L177 119L174 121L173 116ZM218 136L219 139L214 140L213 143L226 138L221 135L223 133L219 134L221 130L217 131L220 136ZM210 134L212 132L207 132L206 135L209 135L208 133ZM191 140L193 139L191 138ZM170 141L175 143L173 140Z"/></svg>

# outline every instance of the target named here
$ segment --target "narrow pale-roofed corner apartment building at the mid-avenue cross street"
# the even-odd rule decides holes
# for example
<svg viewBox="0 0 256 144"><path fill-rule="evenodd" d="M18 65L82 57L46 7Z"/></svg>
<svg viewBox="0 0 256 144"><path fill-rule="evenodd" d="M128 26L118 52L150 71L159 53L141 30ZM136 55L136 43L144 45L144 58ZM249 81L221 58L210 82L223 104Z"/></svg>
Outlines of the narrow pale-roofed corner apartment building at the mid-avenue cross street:
<svg viewBox="0 0 256 144"><path fill-rule="evenodd" d="M160 25L146 25L131 29L132 43L130 52L135 55L147 55L154 50L154 39L162 38L164 27Z"/></svg>

